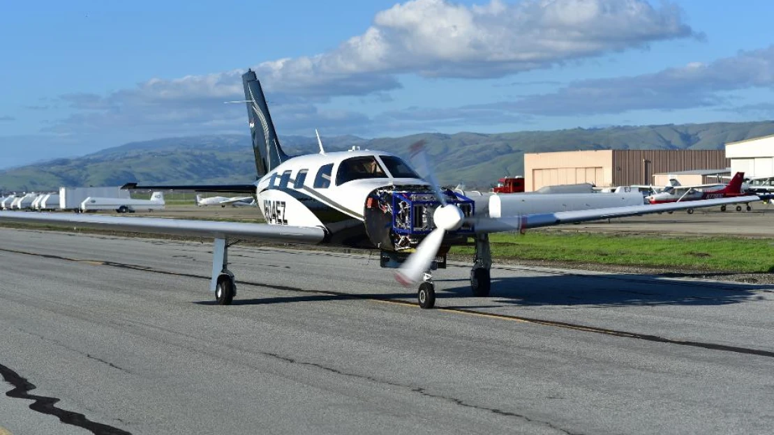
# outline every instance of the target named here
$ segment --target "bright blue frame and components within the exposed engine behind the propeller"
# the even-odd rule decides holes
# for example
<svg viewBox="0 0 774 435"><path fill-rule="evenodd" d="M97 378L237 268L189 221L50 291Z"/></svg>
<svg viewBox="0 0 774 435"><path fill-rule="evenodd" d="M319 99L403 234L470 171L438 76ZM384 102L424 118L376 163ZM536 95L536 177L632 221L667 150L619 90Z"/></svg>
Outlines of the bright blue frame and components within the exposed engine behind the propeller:
<svg viewBox="0 0 774 435"><path fill-rule="evenodd" d="M475 203L451 190L443 191L448 204L459 207L465 217L474 215ZM392 232L403 236L417 236L429 234L435 225L433 224L433 212L440 206L440 202L433 192L392 192ZM470 225L464 224L452 234L472 234Z"/></svg>

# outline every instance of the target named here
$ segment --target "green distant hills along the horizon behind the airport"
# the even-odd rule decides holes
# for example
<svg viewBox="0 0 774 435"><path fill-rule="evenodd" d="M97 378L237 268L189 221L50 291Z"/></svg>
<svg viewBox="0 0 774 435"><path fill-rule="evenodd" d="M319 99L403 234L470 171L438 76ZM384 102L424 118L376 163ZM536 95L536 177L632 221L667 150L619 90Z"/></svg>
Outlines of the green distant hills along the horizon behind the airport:
<svg viewBox="0 0 774 435"><path fill-rule="evenodd" d="M522 175L524 153L601 149L722 149L724 144L774 134L774 121L640 127L574 128L502 134L412 134L401 138L323 138L327 151L361 148L406 156L426 141L443 184L487 187L504 175ZM289 155L317 152L317 140L280 138ZM80 158L58 158L0 172L0 191L43 191L60 186L125 182L218 184L255 180L247 135L210 135L132 142Z"/></svg>

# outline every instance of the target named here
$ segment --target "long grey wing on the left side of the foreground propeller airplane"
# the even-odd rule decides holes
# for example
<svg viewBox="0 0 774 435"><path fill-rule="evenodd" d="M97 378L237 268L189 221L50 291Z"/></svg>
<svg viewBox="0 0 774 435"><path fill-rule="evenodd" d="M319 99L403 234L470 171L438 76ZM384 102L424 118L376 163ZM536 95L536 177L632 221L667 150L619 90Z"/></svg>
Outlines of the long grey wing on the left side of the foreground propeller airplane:
<svg viewBox="0 0 774 435"><path fill-rule="evenodd" d="M87 216L70 213L0 212L0 222L40 223L75 228L112 229L132 233L177 236L235 238L279 243L319 243L325 231L317 227L280 226L265 223L215 222L192 219L163 219L122 216Z"/></svg>

